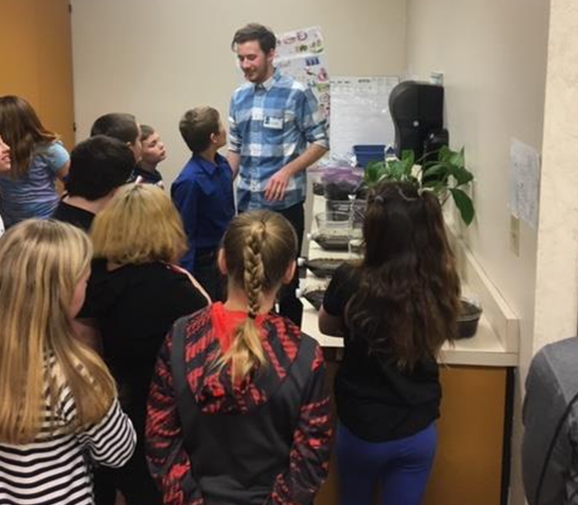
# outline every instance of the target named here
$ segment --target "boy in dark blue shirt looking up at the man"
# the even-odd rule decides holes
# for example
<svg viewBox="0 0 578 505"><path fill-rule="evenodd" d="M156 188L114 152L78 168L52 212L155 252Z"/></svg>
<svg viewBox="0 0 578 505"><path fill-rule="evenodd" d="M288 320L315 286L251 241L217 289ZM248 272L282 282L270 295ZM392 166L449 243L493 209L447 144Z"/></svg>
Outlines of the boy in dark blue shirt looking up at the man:
<svg viewBox="0 0 578 505"><path fill-rule="evenodd" d="M181 265L201 283L213 301L223 300L217 251L235 215L233 173L217 151L227 143L227 132L212 107L197 107L179 123L192 157L171 186L189 249Z"/></svg>

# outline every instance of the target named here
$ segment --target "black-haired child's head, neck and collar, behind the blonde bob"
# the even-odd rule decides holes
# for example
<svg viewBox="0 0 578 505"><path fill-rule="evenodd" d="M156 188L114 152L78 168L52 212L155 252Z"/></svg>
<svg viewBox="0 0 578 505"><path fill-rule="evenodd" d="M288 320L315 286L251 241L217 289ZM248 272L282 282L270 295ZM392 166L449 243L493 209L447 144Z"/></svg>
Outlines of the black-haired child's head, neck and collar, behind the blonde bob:
<svg viewBox="0 0 578 505"><path fill-rule="evenodd" d="M81 142L70 153L67 193L52 218L88 231L133 168L133 152L120 140L96 135Z"/></svg>

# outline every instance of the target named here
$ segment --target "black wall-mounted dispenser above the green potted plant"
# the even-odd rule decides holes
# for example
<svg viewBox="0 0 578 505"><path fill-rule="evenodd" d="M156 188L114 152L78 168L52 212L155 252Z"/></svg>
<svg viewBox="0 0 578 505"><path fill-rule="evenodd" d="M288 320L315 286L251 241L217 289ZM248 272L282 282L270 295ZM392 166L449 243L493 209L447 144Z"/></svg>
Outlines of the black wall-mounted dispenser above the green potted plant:
<svg viewBox="0 0 578 505"><path fill-rule="evenodd" d="M443 108L443 86L404 81L393 88L389 111L395 127L394 148L398 158L403 151L412 150L416 162L423 163L449 144Z"/></svg>

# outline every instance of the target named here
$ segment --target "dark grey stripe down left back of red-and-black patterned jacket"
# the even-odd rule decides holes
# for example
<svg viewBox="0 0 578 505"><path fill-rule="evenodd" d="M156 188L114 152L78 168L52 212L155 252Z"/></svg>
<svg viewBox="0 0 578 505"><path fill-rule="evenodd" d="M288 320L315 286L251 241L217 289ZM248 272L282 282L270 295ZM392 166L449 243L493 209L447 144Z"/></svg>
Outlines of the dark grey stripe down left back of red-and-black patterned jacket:
<svg viewBox="0 0 578 505"><path fill-rule="evenodd" d="M173 326L172 347L171 347L171 368L173 375L173 388L177 411L181 421L181 431L183 432L183 445L187 454L192 454L192 433L197 403L187 382L185 363L185 337L189 316L181 317Z"/></svg>

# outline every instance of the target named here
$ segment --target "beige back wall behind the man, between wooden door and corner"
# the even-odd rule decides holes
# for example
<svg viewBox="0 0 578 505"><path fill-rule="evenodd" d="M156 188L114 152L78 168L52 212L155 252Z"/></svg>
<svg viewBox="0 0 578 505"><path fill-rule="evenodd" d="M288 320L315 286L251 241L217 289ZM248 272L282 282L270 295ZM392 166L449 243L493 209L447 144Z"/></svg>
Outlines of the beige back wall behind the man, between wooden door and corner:
<svg viewBox="0 0 578 505"><path fill-rule="evenodd" d="M227 113L240 83L230 42L258 21L276 32L319 25L333 75L405 70L405 0L72 0L77 140L112 111L134 113L164 137L169 182L187 159L182 113L212 105Z"/></svg>

